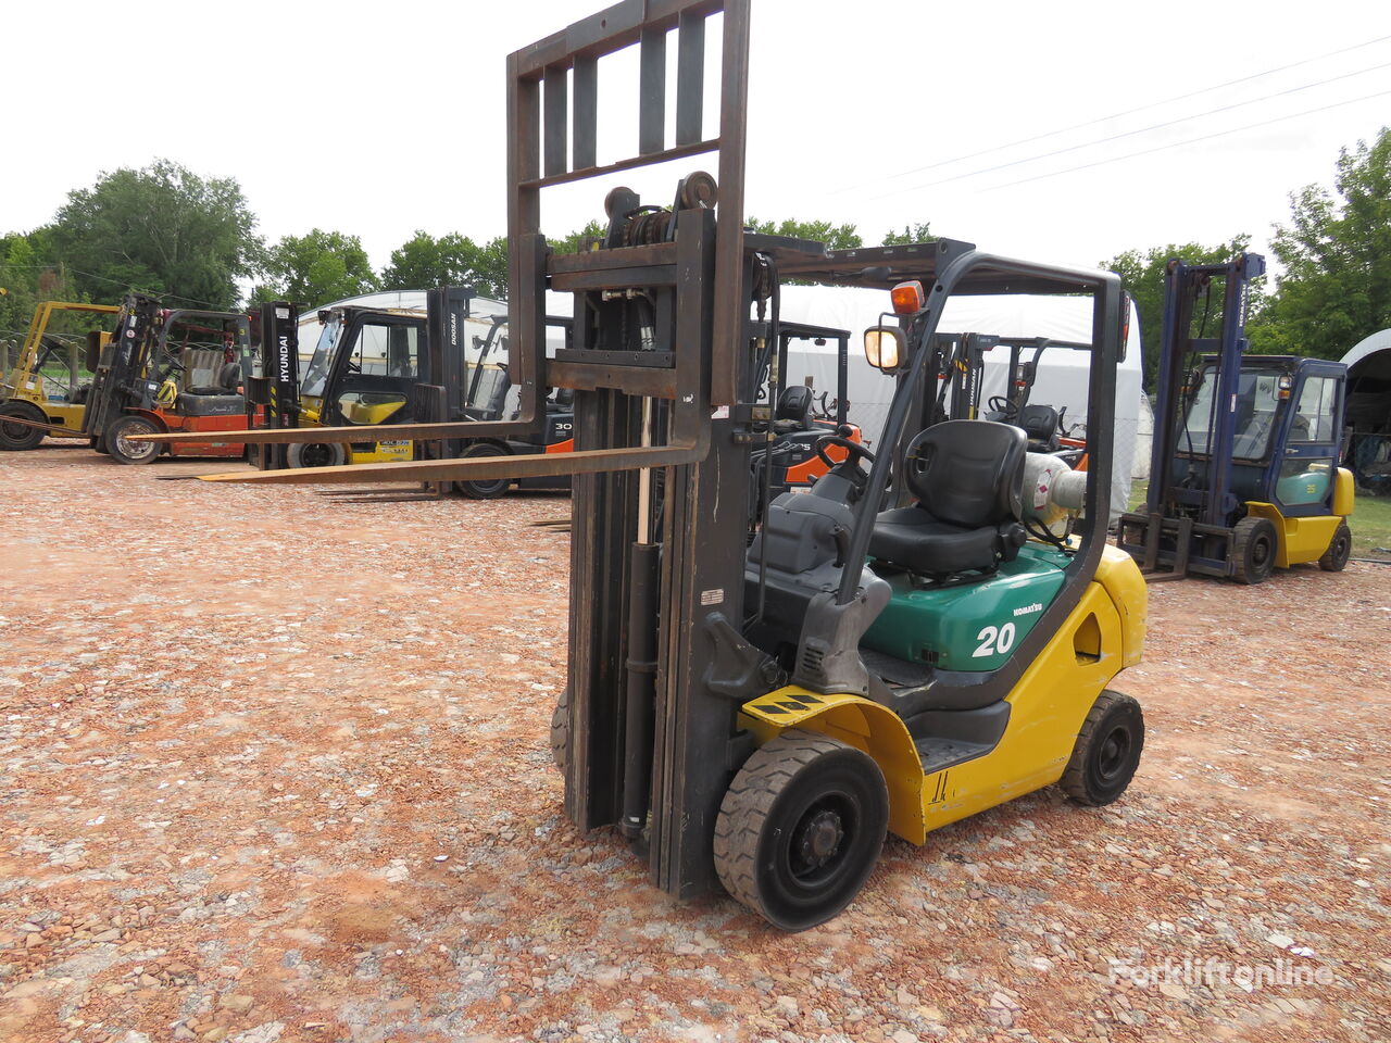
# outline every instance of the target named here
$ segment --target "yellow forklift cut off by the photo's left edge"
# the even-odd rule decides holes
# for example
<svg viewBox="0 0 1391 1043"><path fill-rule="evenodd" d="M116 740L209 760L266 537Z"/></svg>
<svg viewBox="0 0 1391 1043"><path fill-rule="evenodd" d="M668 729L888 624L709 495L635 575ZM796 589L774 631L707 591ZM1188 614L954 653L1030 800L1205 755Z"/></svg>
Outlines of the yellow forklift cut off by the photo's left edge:
<svg viewBox="0 0 1391 1043"><path fill-rule="evenodd" d="M100 353L111 335L93 328L71 337L50 332L50 327L65 314L96 317L120 310L114 305L64 300L45 300L33 309L14 366L0 371L0 449L33 449L45 437L82 437L92 373L89 352L79 341L90 332L93 349Z"/></svg>

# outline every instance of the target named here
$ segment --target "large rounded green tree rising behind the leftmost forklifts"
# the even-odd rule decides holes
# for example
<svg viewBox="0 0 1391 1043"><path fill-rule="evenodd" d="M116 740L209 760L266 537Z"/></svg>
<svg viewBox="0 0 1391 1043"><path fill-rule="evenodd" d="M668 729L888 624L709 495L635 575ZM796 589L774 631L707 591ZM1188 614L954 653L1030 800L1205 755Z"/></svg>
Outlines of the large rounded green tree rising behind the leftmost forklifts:
<svg viewBox="0 0 1391 1043"><path fill-rule="evenodd" d="M224 309L259 266L255 229L235 179L156 160L70 192L51 236L56 259L93 300L118 303L127 289L143 289Z"/></svg>

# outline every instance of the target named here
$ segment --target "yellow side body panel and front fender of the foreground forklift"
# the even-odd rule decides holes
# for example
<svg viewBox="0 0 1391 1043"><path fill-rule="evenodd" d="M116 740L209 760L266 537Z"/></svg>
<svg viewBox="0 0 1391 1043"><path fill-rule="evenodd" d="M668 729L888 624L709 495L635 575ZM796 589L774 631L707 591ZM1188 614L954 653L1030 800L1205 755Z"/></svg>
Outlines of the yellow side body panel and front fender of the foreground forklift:
<svg viewBox="0 0 1391 1043"><path fill-rule="evenodd" d="M903 720L860 695L818 695L796 686L746 702L741 723L759 744L801 727L874 757L889 784L889 829L914 844L978 811L1063 777L1096 697L1139 662L1148 606L1145 580L1129 555L1107 547L1057 634L1006 697L1010 723L983 757L924 775Z"/></svg>

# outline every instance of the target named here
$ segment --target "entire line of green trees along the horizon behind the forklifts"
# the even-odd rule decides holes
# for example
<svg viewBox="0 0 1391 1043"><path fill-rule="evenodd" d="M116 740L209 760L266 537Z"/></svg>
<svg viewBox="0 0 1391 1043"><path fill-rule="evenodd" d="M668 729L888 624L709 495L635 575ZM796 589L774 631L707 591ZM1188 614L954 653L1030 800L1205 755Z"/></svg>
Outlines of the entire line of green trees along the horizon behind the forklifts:
<svg viewBox="0 0 1391 1043"><path fill-rule="evenodd" d="M1391 129L1342 149L1334 188L1291 193L1289 220L1276 225L1283 273L1256 285L1249 302L1252 349L1340 357L1370 332L1391 325ZM759 232L864 246L854 224L750 218ZM598 223L561 236L573 252L602 235ZM926 223L886 232L881 243L931 238ZM1164 266L1224 261L1251 242L1166 243L1100 261L1135 298L1146 377L1157 359ZM74 189L49 224L0 236L0 331L22 330L39 300L118 303L129 289L172 303L217 310L271 299L321 305L376 289L473 285L506 296L506 236L477 242L462 232L417 229L376 271L356 235L312 228L267 243L234 178L203 178L170 160L103 174ZM249 292L243 288L250 285ZM1220 309L1220 302L1213 307ZM1216 320L1210 314L1210 321Z"/></svg>

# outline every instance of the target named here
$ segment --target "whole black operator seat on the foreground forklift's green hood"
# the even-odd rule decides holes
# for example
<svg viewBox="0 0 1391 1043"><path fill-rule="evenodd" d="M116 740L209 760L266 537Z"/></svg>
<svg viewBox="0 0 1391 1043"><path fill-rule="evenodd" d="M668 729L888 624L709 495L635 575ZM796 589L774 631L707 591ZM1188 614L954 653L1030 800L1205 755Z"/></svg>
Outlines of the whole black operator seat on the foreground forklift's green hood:
<svg viewBox="0 0 1391 1043"><path fill-rule="evenodd" d="M1020 522L1028 439L1014 424L947 420L908 445L904 473L918 502L875 520L869 553L918 576L995 572L1028 538Z"/></svg>

